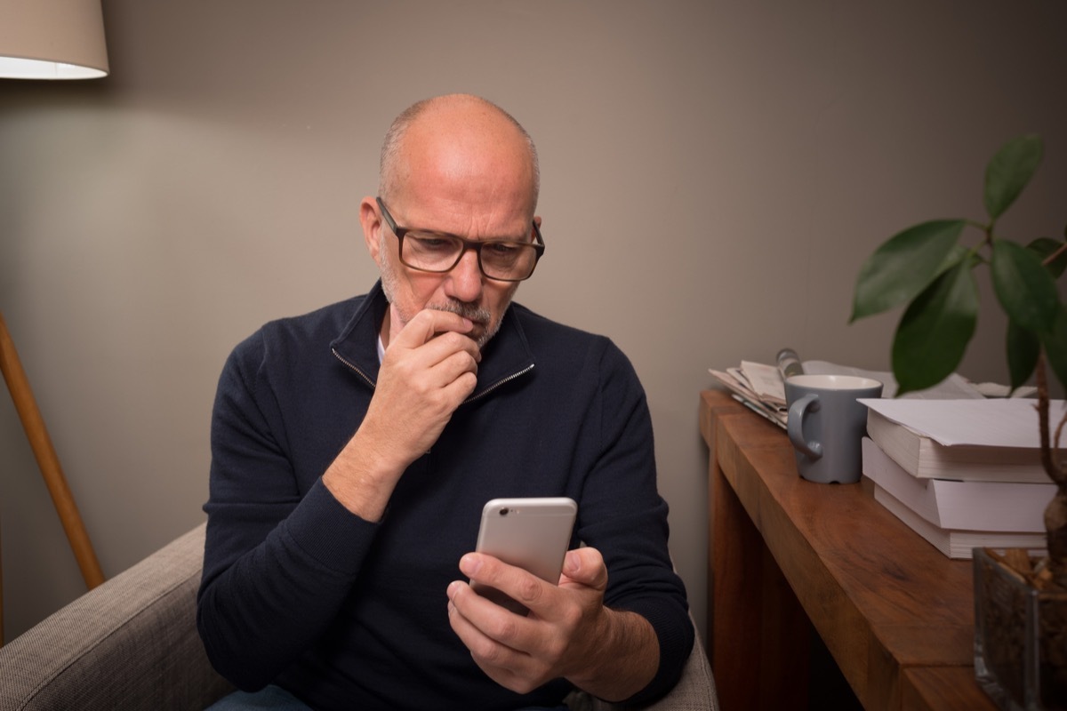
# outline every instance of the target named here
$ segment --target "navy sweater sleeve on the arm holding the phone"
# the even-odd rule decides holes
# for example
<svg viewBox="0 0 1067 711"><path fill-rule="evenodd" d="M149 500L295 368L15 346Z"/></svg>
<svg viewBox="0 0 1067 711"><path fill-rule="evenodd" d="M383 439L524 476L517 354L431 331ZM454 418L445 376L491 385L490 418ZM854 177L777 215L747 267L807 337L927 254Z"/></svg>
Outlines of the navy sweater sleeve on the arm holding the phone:
<svg viewBox="0 0 1067 711"><path fill-rule="evenodd" d="M614 344L600 366L599 459L587 472L579 507L579 536L608 566L605 604L644 617L659 643L653 680L628 699L644 704L678 681L692 648L685 585L668 551L667 502L656 487L652 420L644 391Z"/></svg>

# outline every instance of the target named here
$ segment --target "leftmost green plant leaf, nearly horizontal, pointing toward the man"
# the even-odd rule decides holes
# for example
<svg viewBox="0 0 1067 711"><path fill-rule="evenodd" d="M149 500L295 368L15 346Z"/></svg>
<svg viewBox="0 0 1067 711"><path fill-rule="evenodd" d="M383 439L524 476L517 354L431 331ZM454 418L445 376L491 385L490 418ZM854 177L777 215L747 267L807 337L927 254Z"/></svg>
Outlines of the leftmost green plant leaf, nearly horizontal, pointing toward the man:
<svg viewBox="0 0 1067 711"><path fill-rule="evenodd" d="M860 268L849 322L880 313L914 298L946 268L962 220L934 220L896 233Z"/></svg>

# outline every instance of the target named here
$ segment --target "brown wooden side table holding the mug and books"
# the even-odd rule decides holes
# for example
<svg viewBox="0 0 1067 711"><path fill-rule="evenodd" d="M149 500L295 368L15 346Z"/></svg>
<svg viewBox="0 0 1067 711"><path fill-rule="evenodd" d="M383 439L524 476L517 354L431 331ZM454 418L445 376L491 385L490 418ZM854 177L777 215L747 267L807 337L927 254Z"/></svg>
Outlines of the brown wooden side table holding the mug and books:
<svg viewBox="0 0 1067 711"><path fill-rule="evenodd" d="M974 680L970 561L945 558L862 484L800 479L785 433L726 392L701 393L700 430L723 709L806 708L814 626L865 709L994 711Z"/></svg>

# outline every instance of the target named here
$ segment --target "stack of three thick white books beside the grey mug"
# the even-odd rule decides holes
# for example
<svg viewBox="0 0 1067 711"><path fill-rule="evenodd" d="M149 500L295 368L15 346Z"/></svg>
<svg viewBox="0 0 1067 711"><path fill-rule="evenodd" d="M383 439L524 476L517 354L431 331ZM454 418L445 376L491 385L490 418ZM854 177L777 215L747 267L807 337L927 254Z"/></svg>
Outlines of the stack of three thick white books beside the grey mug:
<svg viewBox="0 0 1067 711"><path fill-rule="evenodd" d="M974 547L1045 551L1055 485L1040 464L1035 401L864 400L874 497L949 558ZM1053 401L1058 422L1064 401Z"/></svg>

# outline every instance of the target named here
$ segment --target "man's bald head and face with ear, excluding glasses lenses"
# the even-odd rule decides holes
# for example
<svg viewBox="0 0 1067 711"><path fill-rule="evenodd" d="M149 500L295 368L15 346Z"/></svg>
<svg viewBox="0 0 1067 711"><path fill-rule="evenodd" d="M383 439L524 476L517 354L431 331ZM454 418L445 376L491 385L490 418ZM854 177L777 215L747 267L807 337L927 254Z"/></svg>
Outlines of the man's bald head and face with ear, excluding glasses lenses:
<svg viewBox="0 0 1067 711"><path fill-rule="evenodd" d="M514 126L482 107L446 106L413 124L393 176L381 197L399 227L471 241L531 239L536 178L529 147ZM405 265L373 197L363 199L360 221L391 304L382 328L386 343L424 308L469 319L479 348L496 334L517 282L484 276L473 249L445 273Z"/></svg>

